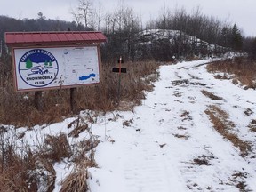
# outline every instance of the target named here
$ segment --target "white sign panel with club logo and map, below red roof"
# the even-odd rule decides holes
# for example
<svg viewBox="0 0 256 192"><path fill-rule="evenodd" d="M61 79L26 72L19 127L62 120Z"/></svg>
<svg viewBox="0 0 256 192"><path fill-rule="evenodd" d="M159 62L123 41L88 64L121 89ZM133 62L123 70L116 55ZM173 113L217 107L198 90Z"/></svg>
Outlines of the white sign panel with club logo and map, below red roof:
<svg viewBox="0 0 256 192"><path fill-rule="evenodd" d="M18 91L100 82L97 46L14 49Z"/></svg>

